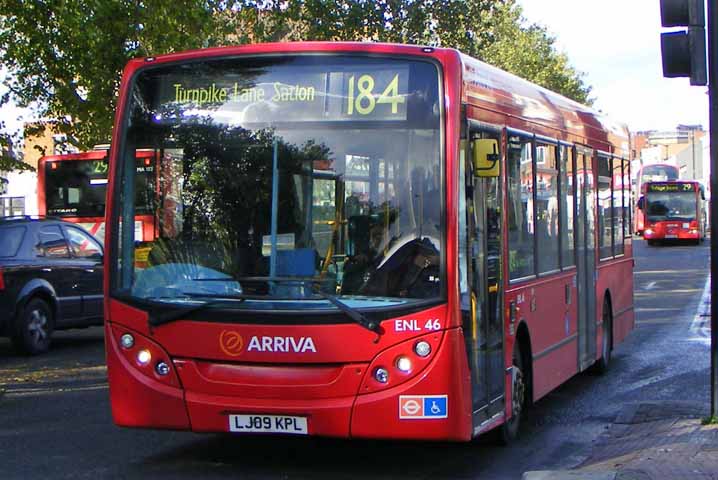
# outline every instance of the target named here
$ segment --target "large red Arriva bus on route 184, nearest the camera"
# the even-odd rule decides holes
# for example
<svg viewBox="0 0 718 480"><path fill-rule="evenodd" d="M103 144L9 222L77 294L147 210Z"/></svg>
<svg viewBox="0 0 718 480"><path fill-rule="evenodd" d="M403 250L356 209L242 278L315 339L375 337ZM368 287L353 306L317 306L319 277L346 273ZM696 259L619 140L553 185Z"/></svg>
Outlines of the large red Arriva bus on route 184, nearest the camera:
<svg viewBox="0 0 718 480"><path fill-rule="evenodd" d="M629 147L451 49L131 61L106 230L115 423L510 440L633 328ZM137 149L161 158L144 268L124 228Z"/></svg>

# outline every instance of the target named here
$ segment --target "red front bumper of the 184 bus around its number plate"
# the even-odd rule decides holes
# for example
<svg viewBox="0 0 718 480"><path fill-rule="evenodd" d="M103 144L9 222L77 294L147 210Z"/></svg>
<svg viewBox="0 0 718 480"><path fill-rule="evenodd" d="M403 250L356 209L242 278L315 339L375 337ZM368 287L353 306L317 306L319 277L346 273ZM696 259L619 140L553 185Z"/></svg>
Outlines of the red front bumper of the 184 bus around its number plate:
<svg viewBox="0 0 718 480"><path fill-rule="evenodd" d="M111 327L106 329L106 339L112 339ZM239 389L227 384L223 390L200 391L194 377L202 369L190 359L173 361L180 382L178 386L165 385L133 368L122 347L110 340L106 351L112 414L115 423L125 427L230 432L237 430L238 419L242 423L269 419L265 422L273 426L282 419L294 422L289 425L298 421L304 424L302 419L306 419L306 428L299 434L468 441L472 436L468 368L464 375L456 372L456 366L466 362L466 357L461 357L462 342L459 329L446 331L439 350L421 374L395 387L358 394L364 384L357 381L351 386L352 393L346 394L350 385L339 376L333 391L340 395L317 398L306 388L295 388L294 395L278 388L272 395L262 385ZM350 369L356 372L358 365ZM368 373L363 368L361 376Z"/></svg>

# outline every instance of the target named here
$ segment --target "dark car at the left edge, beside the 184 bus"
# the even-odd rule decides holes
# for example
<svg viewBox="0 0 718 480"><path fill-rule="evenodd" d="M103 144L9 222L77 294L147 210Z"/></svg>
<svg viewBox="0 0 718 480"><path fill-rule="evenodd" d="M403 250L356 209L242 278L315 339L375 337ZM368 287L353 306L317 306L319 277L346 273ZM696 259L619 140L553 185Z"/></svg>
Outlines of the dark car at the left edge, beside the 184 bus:
<svg viewBox="0 0 718 480"><path fill-rule="evenodd" d="M0 218L0 334L38 354L54 330L101 325L102 253L73 223Z"/></svg>

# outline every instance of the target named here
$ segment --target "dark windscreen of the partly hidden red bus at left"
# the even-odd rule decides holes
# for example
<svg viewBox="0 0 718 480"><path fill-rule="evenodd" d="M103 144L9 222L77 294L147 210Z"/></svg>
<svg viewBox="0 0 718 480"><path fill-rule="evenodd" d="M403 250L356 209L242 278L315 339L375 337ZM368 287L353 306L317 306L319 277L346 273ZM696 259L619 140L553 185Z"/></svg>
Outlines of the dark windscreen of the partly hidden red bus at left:
<svg viewBox="0 0 718 480"><path fill-rule="evenodd" d="M137 214L151 211L154 166L137 159L135 201ZM55 160L45 164L47 214L57 217L103 217L107 191L107 159Z"/></svg>

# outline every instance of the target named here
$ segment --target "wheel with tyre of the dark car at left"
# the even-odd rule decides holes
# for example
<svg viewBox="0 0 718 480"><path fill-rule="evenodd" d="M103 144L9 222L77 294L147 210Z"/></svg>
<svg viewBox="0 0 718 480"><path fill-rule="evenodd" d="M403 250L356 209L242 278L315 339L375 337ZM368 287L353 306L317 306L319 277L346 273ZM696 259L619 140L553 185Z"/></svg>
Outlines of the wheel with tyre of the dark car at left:
<svg viewBox="0 0 718 480"><path fill-rule="evenodd" d="M33 298L23 307L15 319L12 343L15 348L29 355L46 352L54 328L52 309L44 300Z"/></svg>

